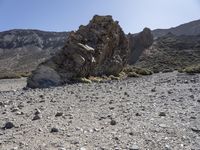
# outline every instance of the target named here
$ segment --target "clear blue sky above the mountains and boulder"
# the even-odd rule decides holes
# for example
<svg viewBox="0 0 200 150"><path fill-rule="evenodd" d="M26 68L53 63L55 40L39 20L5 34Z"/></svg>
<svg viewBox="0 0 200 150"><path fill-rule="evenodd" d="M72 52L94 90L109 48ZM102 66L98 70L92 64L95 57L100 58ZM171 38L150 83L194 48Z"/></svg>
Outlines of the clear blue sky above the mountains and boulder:
<svg viewBox="0 0 200 150"><path fill-rule="evenodd" d="M112 15L126 33L136 33L200 19L200 0L0 0L0 31L71 31L94 14Z"/></svg>

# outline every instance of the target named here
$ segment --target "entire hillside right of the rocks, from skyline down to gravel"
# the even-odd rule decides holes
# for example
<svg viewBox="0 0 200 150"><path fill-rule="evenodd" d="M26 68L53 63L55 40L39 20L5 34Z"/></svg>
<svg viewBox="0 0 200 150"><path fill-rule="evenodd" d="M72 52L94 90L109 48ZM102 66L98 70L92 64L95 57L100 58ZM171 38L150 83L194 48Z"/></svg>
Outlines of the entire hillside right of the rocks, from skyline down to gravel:
<svg viewBox="0 0 200 150"><path fill-rule="evenodd" d="M200 20L153 30L152 34L154 43L140 56L136 66L165 72L200 64Z"/></svg>

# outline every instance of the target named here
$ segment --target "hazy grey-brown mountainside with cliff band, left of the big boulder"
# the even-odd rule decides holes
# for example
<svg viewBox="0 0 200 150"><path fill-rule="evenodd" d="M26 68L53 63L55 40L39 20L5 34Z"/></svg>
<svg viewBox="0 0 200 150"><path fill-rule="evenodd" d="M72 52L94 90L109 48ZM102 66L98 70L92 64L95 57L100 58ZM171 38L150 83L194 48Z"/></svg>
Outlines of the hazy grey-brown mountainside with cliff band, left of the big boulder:
<svg viewBox="0 0 200 150"><path fill-rule="evenodd" d="M32 71L63 47L67 35L67 32L39 30L0 32L0 77Z"/></svg>

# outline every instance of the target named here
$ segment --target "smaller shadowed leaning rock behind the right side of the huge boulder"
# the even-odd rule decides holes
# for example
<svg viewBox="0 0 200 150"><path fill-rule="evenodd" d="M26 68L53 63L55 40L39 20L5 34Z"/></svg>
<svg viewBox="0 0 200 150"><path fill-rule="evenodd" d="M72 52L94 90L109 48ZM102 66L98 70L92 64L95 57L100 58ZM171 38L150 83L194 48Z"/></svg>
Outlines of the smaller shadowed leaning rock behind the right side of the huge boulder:
<svg viewBox="0 0 200 150"><path fill-rule="evenodd" d="M139 59L143 51L152 45L153 35L150 29L144 28L144 30L138 34L128 34L128 39L130 47L128 63L132 65Z"/></svg>

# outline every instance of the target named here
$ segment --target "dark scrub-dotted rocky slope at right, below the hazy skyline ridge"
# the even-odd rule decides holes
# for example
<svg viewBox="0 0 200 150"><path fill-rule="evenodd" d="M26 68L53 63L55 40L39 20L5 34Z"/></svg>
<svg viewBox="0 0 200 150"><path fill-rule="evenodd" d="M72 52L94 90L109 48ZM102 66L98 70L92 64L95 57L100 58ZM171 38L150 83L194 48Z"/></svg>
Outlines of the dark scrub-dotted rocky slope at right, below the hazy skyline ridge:
<svg viewBox="0 0 200 150"><path fill-rule="evenodd" d="M167 34L155 40L135 65L166 72L197 64L200 64L200 35Z"/></svg>

